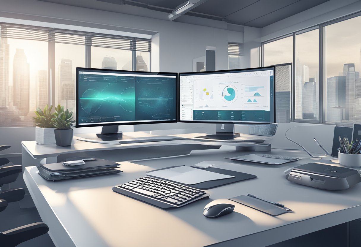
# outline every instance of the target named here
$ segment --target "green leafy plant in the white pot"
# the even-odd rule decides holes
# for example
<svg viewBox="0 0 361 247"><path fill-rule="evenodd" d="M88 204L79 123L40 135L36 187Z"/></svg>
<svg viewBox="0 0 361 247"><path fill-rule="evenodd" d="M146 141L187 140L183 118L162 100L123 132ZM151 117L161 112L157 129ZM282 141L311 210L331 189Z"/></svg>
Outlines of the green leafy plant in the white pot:
<svg viewBox="0 0 361 247"><path fill-rule="evenodd" d="M54 125L51 121L55 115L51 113L53 106L45 105L44 110L38 107L34 112L36 117L33 117L35 126L35 142L38 144L54 144Z"/></svg>

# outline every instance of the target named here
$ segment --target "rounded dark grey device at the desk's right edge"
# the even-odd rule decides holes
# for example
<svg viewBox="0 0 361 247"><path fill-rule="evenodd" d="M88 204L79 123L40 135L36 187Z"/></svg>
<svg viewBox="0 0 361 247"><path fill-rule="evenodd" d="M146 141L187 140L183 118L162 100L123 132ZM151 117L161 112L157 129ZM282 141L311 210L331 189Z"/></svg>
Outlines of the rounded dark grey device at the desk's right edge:
<svg viewBox="0 0 361 247"><path fill-rule="evenodd" d="M296 166L285 173L290 182L325 190L345 190L361 182L355 169L317 163Z"/></svg>

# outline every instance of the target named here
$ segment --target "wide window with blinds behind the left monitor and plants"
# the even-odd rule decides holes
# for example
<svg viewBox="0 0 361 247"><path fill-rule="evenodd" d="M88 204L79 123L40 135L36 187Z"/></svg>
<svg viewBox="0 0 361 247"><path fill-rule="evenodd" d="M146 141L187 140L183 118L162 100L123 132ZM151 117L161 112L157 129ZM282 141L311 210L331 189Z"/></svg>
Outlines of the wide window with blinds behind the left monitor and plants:
<svg viewBox="0 0 361 247"><path fill-rule="evenodd" d="M75 68L150 71L151 40L0 23L0 127L33 126L37 107L75 112Z"/></svg>

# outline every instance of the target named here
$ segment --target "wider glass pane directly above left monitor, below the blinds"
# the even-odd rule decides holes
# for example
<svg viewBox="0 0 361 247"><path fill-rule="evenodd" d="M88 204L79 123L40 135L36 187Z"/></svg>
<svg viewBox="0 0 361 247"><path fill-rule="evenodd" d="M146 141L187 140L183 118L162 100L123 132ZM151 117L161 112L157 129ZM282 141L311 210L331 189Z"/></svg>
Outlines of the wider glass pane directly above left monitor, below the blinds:
<svg viewBox="0 0 361 247"><path fill-rule="evenodd" d="M132 51L92 46L91 68L132 70Z"/></svg>

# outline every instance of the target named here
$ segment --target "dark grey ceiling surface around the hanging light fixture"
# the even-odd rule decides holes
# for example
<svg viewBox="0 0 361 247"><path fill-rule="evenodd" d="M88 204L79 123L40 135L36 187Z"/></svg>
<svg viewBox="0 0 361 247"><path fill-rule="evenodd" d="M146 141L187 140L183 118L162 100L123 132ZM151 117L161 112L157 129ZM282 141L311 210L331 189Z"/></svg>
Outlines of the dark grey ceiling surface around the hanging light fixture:
<svg viewBox="0 0 361 247"><path fill-rule="evenodd" d="M41 0L53 3L82 6L84 1ZM172 10L186 0L96 0L87 1L84 8L96 9L98 4L106 2L114 5L116 12L119 5L133 5L161 12L171 13ZM329 0L206 0L185 15L198 16L227 23L262 28L294 14L310 9ZM118 6L116 6L118 5ZM104 9L104 6L102 6Z"/></svg>

